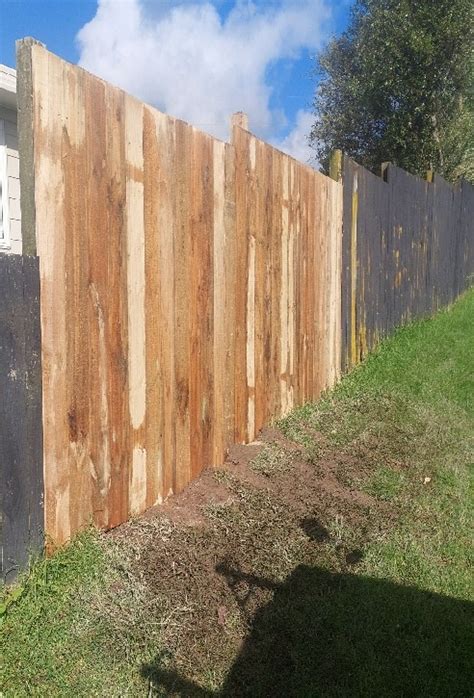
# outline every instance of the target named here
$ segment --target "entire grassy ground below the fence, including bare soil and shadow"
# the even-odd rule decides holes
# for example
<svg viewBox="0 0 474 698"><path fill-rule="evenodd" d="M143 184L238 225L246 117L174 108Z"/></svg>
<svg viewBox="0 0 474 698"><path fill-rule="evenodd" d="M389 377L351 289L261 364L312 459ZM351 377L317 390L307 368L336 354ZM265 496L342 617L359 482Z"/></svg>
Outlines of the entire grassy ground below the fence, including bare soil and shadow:
<svg viewBox="0 0 474 698"><path fill-rule="evenodd" d="M88 531L0 592L0 695L471 697L474 292L277 426L202 530Z"/></svg>

